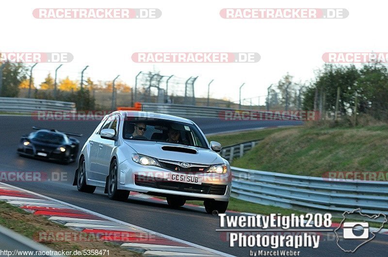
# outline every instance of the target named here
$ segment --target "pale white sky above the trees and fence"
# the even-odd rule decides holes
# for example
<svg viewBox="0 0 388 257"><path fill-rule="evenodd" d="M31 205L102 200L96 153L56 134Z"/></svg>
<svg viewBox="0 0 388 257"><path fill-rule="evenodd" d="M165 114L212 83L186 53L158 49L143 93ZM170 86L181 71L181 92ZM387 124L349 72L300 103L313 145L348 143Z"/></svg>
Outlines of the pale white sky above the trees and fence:
<svg viewBox="0 0 388 257"><path fill-rule="evenodd" d="M295 82L310 81L324 64L325 52L387 51L385 1L369 0L18 0L2 2L1 52L69 52L59 79L85 77L130 86L139 71L164 76L198 76L195 96L238 101L264 96L267 87L289 73ZM158 8L157 19L36 19L36 8ZM224 19L223 8L345 8L343 19ZM256 52L254 63L136 63L135 52ZM34 68L40 84L58 63ZM260 103L264 104L265 97ZM258 101L258 100L255 100Z"/></svg>

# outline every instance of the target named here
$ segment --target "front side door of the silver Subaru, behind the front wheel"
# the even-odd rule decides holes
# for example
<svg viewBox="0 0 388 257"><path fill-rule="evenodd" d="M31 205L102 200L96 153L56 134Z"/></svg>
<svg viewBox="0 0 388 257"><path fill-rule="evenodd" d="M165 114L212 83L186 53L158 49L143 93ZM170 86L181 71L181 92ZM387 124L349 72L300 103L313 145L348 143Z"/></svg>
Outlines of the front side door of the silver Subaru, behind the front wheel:
<svg viewBox="0 0 388 257"><path fill-rule="evenodd" d="M115 136L118 135L118 125L119 125L119 116L113 115L111 117L111 124L109 126L110 129L113 129L116 133ZM114 147L116 146L116 142L113 139L99 138L98 140L98 154L97 154L97 163L98 163L98 171L96 173L97 180L106 181L106 177L109 175L109 169L111 164L111 157Z"/></svg>

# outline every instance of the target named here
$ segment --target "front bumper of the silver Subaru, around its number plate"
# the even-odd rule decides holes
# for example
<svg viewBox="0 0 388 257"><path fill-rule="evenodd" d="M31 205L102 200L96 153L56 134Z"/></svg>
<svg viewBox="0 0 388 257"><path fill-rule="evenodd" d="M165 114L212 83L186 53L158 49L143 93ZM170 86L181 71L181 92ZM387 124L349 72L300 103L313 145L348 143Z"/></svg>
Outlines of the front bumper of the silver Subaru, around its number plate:
<svg viewBox="0 0 388 257"><path fill-rule="evenodd" d="M190 200L228 201L231 174L174 172L156 166L142 166L131 159L118 166L118 189L155 196L181 196ZM201 184L167 181L168 174L188 174L202 178Z"/></svg>

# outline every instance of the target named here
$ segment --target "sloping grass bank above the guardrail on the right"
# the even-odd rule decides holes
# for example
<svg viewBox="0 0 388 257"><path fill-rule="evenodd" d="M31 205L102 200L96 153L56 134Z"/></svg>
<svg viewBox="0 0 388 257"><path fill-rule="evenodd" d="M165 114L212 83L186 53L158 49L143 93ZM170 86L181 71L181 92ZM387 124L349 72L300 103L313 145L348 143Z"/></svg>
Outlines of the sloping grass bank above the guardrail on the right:
<svg viewBox="0 0 388 257"><path fill-rule="evenodd" d="M327 171L388 171L387 152L388 125L294 127L267 135L233 166L313 177Z"/></svg>

